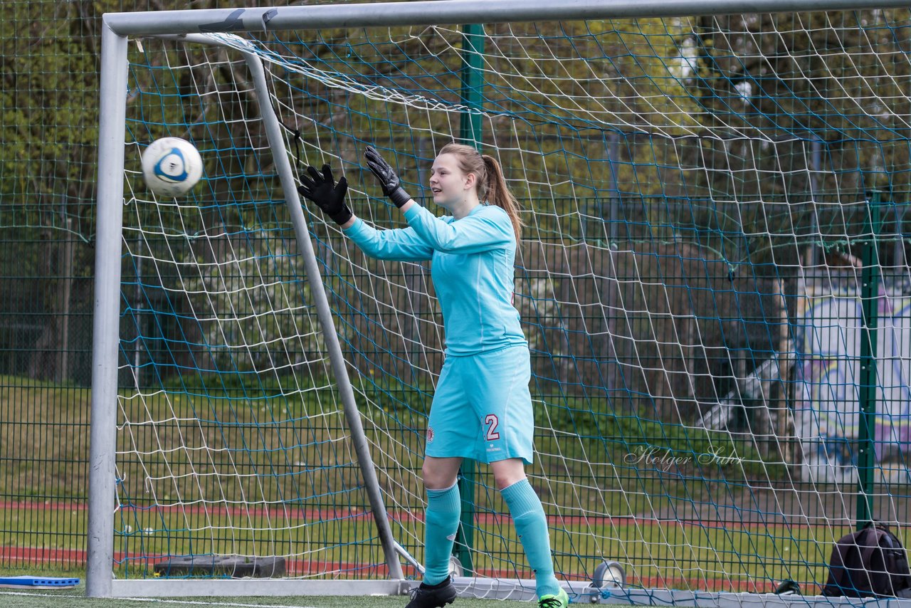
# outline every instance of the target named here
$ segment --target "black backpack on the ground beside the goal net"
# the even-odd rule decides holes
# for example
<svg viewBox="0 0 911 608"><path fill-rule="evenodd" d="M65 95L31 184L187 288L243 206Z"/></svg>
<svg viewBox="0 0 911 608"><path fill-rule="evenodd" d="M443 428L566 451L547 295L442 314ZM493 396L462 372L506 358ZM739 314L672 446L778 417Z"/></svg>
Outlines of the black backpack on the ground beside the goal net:
<svg viewBox="0 0 911 608"><path fill-rule="evenodd" d="M901 541L878 522L842 537L832 550L823 595L911 597L911 570Z"/></svg>

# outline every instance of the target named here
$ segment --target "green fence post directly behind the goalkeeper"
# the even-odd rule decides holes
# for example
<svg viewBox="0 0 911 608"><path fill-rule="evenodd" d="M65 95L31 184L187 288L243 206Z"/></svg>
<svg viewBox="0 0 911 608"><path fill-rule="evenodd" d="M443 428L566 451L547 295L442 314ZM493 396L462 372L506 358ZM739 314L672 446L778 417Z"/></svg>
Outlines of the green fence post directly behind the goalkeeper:
<svg viewBox="0 0 911 608"><path fill-rule="evenodd" d="M461 142L481 149L481 114L484 107L484 26L472 24L462 27L462 91L461 101L468 108L462 112L459 139ZM471 548L475 542L475 474L474 460L462 461L459 492L462 496L461 525L455 535L453 554L462 564L466 576L474 574Z"/></svg>

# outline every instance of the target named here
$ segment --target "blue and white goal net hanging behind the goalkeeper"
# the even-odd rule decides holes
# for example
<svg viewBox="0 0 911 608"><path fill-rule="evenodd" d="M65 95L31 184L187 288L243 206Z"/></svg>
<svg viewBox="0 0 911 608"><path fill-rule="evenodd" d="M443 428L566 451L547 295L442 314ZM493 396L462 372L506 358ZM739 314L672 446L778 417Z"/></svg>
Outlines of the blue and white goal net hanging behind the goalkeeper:
<svg viewBox="0 0 911 608"><path fill-rule="evenodd" d="M429 263L368 259L305 206L313 283L279 180L282 163L328 163L357 216L402 227L367 145L438 214L429 168L450 141L496 157L517 194L528 474L575 591L792 580L814 595L858 520L906 524L907 9L210 38L128 47L118 577L390 575L324 290L394 559L420 580L445 338ZM244 54L265 67L268 105ZM139 169L165 136L205 162L176 200ZM463 473L459 573L527 582L488 470Z"/></svg>

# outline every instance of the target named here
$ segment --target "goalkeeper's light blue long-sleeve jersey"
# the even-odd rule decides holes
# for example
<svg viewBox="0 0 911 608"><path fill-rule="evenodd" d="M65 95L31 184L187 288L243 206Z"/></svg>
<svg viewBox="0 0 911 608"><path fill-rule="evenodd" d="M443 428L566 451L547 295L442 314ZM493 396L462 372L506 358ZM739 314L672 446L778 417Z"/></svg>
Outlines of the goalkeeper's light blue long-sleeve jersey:
<svg viewBox="0 0 911 608"><path fill-rule="evenodd" d="M380 260L431 261L446 354L527 345L513 305L516 235L507 212L483 204L455 220L415 204L404 218L408 228L378 231L358 219L344 233Z"/></svg>

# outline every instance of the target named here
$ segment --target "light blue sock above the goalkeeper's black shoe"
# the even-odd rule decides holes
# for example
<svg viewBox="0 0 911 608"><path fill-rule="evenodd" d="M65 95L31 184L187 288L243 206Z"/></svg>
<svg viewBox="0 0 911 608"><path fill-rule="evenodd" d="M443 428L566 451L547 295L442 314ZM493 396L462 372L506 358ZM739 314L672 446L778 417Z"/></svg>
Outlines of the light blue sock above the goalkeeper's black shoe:
<svg viewBox="0 0 911 608"><path fill-rule="evenodd" d="M424 582L435 585L449 576L449 556L462 514L458 482L451 488L428 489L424 531Z"/></svg>

